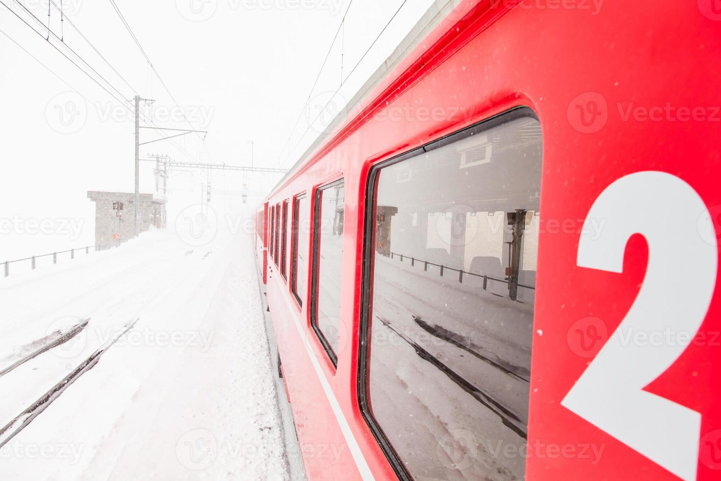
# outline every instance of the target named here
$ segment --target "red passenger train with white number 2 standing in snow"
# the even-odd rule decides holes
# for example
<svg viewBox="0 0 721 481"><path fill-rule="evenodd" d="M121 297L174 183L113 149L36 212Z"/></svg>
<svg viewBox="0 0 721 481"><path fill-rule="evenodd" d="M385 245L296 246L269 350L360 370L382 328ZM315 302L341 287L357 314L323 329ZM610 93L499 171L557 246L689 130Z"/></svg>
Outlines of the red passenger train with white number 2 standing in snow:
<svg viewBox="0 0 721 481"><path fill-rule="evenodd" d="M718 1L423 21L258 211L307 476L721 479Z"/></svg>

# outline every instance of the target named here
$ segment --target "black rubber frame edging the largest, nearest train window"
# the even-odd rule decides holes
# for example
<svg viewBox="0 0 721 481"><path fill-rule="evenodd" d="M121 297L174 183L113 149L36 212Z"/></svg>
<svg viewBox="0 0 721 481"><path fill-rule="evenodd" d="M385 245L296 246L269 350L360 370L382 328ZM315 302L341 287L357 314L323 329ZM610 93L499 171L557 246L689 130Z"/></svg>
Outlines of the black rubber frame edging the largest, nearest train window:
<svg viewBox="0 0 721 481"><path fill-rule="evenodd" d="M401 481L413 481L415 480L406 465L404 464L401 456L394 449L393 445L386 437L381 425L373 417L371 410L371 393L370 393L370 360L371 360L371 338L369 337L370 327L370 314L373 311L373 260L375 259L375 224L376 224L376 197L378 187L378 175L381 169L389 167L393 164L403 162L407 159L412 159L415 156L424 154L435 149L439 149L448 144L461 141L464 138L473 136L477 133L489 131L492 128L499 127L505 123L521 118L533 118L539 121L539 116L536 112L525 105L510 108L505 112L500 112L497 115L493 115L490 118L480 120L469 127L462 128L459 131L450 133L446 136L430 141L428 144L417 147L412 151L407 151L390 159L382 160L371 165L368 171L367 183L366 183L366 199L365 206L363 206L363 238L362 252L363 257L361 260L361 309L359 315L359 327L358 327L358 367L356 371L356 392L358 397L358 407L361 411L363 419L366 421L366 425L371 430L373 437L376 438L376 442L381 447L386 459L394 470L395 474Z"/></svg>

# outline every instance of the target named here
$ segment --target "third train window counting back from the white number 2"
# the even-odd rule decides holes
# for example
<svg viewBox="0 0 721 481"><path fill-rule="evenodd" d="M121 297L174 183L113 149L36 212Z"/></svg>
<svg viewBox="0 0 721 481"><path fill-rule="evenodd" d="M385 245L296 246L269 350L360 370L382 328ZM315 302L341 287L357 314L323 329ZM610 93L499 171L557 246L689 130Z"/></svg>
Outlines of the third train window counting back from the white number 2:
<svg viewBox="0 0 721 481"><path fill-rule="evenodd" d="M310 208L306 195L298 195L293 202L293 239L291 244L291 289L298 304L303 305L308 294L308 252L310 250Z"/></svg>

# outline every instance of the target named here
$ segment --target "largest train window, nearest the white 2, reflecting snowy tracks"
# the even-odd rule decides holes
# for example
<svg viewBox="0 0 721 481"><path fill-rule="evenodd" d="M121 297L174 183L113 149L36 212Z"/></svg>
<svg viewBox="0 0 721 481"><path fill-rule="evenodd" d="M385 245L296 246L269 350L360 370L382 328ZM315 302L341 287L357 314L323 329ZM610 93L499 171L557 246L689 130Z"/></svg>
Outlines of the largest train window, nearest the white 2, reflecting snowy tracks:
<svg viewBox="0 0 721 481"><path fill-rule="evenodd" d="M402 479L525 475L540 183L528 109L371 170L360 400Z"/></svg>

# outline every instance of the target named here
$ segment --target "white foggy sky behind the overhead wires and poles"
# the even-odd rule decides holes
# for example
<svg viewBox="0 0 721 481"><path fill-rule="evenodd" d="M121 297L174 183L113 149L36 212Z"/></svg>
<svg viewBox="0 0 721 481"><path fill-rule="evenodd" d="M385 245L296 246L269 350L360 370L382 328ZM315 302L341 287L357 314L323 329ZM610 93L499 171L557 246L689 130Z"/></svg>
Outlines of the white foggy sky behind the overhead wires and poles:
<svg viewBox="0 0 721 481"><path fill-rule="evenodd" d="M2 0L10 9L29 19L15 0ZM35 16L48 22L47 0L19 0ZM60 4L60 0L54 0ZM291 138L296 151L288 158L286 145L330 41L340 25L349 0L116 0L162 79L180 103L195 128L208 130L205 146L195 134L174 139L183 153L168 141L141 146L141 159L148 154L168 154L176 160L249 164L250 144L255 141L255 164L291 167L317 135L309 127L307 113ZM345 21L344 76L361 58L376 35L402 4L402 0L355 0ZM342 98L350 99L385 60L433 0L407 0L361 66L344 84ZM191 21L190 6L203 21ZM145 59L108 0L63 0L68 19L93 43L141 97L156 100L153 116L158 125L187 128L185 122L162 118L174 107L159 80L151 75ZM51 10L50 26L59 36L60 16ZM185 14L185 16L184 16ZM0 34L0 138L2 170L0 220L19 218L72 219L81 224L79 233L23 234L12 229L0 233L0 261L39 255L94 243L94 204L87 190L133 190L133 115L113 100L44 37L0 5L0 30L67 81L63 81ZM117 87L123 98L134 93L77 32L63 22L66 45L79 53L94 69ZM340 41L331 53L324 74L314 89L311 118L340 84ZM61 97L58 97L61 95ZM69 97L68 97L69 96ZM67 107L78 99L84 103L67 127ZM314 106L316 106L314 108ZM177 110L177 109L176 109ZM118 113L119 112L119 113ZM78 120L80 119L80 120ZM82 119L85 119L84 122ZM112 120L115 119L115 120ZM203 122L202 120L207 120ZM141 125L144 125L141 123ZM61 131L67 130L68 133ZM201 134L202 135L202 134ZM142 141L158 134L141 130ZM213 173L214 182L218 173ZM169 195L173 204L200 198L192 190L203 182L200 174L180 175L169 182L178 193ZM267 191L278 177L249 177L250 190ZM254 182L255 180L255 182ZM215 185L215 184L214 184ZM225 188L240 190L240 175L226 175ZM216 185L220 187L219 185ZM141 163L141 192L154 191L150 163ZM222 188L222 187L221 187ZM216 200L217 197L214 198ZM221 199L218 199L220 201ZM169 227L172 228L169 216ZM7 227L7 223L4 224ZM2 227L2 226L0 226ZM59 230L59 229L56 229Z"/></svg>

